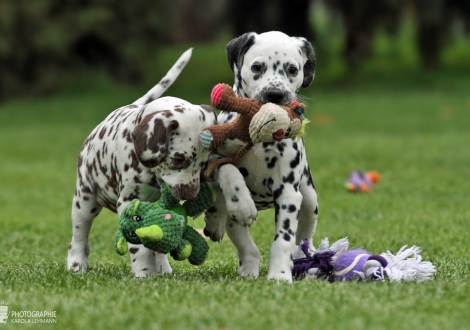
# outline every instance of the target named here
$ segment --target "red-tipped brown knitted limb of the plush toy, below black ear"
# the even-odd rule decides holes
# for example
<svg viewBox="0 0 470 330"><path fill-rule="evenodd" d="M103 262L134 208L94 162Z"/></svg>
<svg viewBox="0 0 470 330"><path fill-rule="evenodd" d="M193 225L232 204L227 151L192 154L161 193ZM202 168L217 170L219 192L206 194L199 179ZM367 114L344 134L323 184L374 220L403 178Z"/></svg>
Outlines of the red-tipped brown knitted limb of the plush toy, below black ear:
<svg viewBox="0 0 470 330"><path fill-rule="evenodd" d="M217 84L212 89L211 102L214 107L223 111L249 114L257 111L261 103L254 99L244 99L235 95L232 87L227 84Z"/></svg>

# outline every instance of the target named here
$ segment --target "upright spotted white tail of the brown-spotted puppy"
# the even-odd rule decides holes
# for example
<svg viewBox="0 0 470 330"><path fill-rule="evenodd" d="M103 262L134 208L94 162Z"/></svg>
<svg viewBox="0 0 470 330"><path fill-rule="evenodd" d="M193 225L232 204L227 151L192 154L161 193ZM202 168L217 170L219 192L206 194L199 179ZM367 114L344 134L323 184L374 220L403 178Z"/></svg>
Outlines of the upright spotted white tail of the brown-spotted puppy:
<svg viewBox="0 0 470 330"><path fill-rule="evenodd" d="M158 99L160 96L162 96L163 93L170 87L178 78L180 75L181 71L183 71L184 67L186 64L189 62L191 58L191 54L193 52L192 48L189 48L187 51L185 51L180 58L173 64L171 69L167 72L165 77L163 77L158 84L156 84L151 90L147 92L144 96L142 96L140 99L136 100L132 104L136 105L145 105L147 103L152 102L153 100Z"/></svg>

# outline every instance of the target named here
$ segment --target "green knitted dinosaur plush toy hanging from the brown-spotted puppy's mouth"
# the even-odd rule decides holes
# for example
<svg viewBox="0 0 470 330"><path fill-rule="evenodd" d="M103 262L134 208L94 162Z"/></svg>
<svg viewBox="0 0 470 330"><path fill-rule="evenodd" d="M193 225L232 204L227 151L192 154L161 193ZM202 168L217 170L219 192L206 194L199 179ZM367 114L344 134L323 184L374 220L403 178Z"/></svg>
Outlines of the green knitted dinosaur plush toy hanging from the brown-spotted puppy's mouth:
<svg viewBox="0 0 470 330"><path fill-rule="evenodd" d="M143 244L159 253L170 253L175 260L201 265L209 252L209 245L193 227L188 216L196 217L215 201L215 190L209 183L201 184L196 199L180 204L168 186L161 189L162 196L155 203L134 199L121 213L116 233L116 251L124 255L127 242Z"/></svg>

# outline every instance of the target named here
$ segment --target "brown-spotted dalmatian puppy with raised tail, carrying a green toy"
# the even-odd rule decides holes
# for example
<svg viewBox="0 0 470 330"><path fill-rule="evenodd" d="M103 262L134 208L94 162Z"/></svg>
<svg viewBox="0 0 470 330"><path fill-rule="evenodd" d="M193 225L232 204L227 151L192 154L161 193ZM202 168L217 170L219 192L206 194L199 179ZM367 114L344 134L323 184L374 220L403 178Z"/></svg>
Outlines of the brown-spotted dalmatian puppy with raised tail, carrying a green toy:
<svg viewBox="0 0 470 330"><path fill-rule="evenodd" d="M68 269L86 271L88 235L103 207L120 214L134 198L155 201L163 183L178 199L193 199L199 192L200 172L209 157L199 133L216 123L216 115L209 106L159 98L190 57L188 50L154 88L112 112L83 144L72 205ZM166 255L141 245L128 246L135 276L172 271Z"/></svg>

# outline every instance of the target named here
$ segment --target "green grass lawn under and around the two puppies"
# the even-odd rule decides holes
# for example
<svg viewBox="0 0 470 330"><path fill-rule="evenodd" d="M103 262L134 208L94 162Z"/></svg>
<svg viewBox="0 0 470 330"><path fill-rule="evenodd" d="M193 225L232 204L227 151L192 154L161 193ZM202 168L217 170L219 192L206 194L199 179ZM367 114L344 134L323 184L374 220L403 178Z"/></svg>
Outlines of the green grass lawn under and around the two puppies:
<svg viewBox="0 0 470 330"><path fill-rule="evenodd" d="M168 64L180 50L167 54ZM169 94L207 103L213 84L231 82L223 49L204 58L195 52L193 61L220 63L214 68L220 71L202 78L202 87L182 77ZM200 66L191 64L183 76L197 76ZM114 251L117 216L108 211L92 228L89 271L71 274L65 260L78 151L110 111L147 87L97 79L95 89L83 84L76 93L1 104L0 305L56 311L57 324L33 329L470 328L468 77L463 71L358 74L324 86L319 72L304 94L321 207L314 243L348 236L354 247L376 253L418 245L437 267L434 279L420 284L268 282L272 211L261 212L251 229L263 257L259 279L237 276L228 238L210 243L200 267L172 261L171 276L134 279L128 257ZM359 168L382 176L370 194L342 186ZM202 228L203 220L193 224Z"/></svg>

